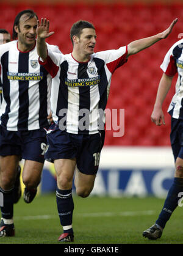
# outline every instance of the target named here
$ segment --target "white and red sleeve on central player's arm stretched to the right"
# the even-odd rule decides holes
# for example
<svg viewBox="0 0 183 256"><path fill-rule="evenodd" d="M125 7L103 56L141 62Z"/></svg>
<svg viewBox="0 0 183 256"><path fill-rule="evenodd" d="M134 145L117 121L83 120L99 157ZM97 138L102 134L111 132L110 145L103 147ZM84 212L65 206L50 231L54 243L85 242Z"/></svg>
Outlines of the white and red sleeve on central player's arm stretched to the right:
<svg viewBox="0 0 183 256"><path fill-rule="evenodd" d="M119 49L101 51L98 56L106 62L107 68L113 74L117 68L127 62L127 45Z"/></svg>

